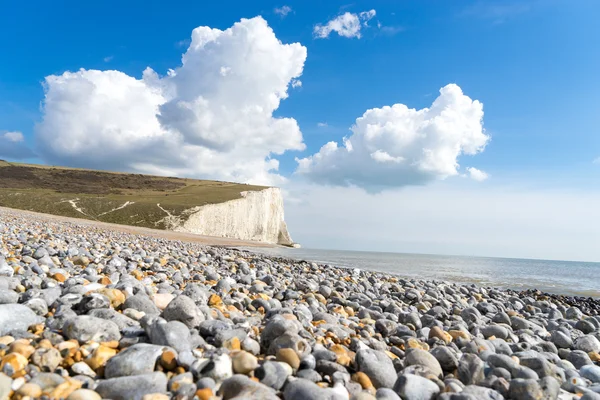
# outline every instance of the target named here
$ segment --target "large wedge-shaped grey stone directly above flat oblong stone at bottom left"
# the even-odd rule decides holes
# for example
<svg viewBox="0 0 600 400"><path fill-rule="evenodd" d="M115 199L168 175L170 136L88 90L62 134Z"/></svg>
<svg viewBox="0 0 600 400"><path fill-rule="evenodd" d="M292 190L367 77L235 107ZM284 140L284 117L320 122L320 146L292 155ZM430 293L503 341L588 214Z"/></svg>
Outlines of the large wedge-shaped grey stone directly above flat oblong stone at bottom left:
<svg viewBox="0 0 600 400"><path fill-rule="evenodd" d="M165 349L168 347L147 343L134 344L108 360L104 376L110 379L150 374Z"/></svg>

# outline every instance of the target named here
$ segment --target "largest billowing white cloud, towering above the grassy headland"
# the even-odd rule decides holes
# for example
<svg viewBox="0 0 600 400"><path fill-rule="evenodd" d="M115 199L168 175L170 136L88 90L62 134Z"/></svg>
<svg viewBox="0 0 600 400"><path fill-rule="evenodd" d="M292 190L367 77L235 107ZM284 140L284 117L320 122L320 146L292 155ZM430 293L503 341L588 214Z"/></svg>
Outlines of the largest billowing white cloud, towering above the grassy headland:
<svg viewBox="0 0 600 400"><path fill-rule="evenodd" d="M48 76L40 153L57 164L278 183L274 155L305 145L297 122L273 112L305 60L305 47L282 44L256 17L194 29L166 76L150 68L141 79L85 69Z"/></svg>

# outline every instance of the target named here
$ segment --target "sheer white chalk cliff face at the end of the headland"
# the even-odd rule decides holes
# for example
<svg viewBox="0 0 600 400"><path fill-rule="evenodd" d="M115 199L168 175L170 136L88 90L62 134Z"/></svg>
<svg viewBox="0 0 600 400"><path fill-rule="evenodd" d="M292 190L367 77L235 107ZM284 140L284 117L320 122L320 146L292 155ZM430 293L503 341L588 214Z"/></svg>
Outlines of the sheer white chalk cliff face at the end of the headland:
<svg viewBox="0 0 600 400"><path fill-rule="evenodd" d="M242 192L242 198L189 210L189 216L170 229L198 235L256 240L290 246L278 188Z"/></svg>

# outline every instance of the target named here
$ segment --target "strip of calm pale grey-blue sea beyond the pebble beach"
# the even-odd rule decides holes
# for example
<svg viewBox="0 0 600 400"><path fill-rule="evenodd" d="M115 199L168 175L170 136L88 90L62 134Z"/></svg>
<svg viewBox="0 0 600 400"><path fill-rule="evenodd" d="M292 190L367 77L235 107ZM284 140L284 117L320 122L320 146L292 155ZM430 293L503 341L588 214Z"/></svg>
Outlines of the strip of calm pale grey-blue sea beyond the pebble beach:
<svg viewBox="0 0 600 400"><path fill-rule="evenodd" d="M600 263L520 258L464 257L366 251L248 249L265 255L337 267L386 272L405 278L600 298Z"/></svg>

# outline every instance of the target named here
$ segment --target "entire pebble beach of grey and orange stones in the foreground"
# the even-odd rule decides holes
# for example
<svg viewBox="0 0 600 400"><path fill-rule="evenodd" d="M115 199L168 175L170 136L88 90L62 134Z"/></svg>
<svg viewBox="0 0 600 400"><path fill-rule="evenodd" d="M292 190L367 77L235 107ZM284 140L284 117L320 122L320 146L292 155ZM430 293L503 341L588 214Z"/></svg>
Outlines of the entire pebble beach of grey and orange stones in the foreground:
<svg viewBox="0 0 600 400"><path fill-rule="evenodd" d="M0 400L600 399L600 300L0 209Z"/></svg>

